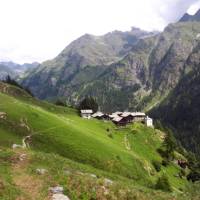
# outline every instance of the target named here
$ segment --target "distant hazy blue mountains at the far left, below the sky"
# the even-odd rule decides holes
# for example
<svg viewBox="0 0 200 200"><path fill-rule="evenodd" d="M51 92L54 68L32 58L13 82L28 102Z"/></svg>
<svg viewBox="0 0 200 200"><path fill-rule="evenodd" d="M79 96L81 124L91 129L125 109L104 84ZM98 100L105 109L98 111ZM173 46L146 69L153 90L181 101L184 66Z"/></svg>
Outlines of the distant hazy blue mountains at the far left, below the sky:
<svg viewBox="0 0 200 200"><path fill-rule="evenodd" d="M5 79L6 76L11 76L12 78L17 78L22 76L25 72L34 69L39 63L24 63L22 65L14 62L0 62L0 79Z"/></svg>

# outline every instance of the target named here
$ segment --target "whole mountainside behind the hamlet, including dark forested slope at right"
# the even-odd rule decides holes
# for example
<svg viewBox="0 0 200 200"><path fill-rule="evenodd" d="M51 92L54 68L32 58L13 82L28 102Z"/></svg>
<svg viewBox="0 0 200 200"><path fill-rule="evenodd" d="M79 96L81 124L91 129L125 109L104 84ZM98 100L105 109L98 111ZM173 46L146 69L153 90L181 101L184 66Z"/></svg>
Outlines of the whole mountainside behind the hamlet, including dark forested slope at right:
<svg viewBox="0 0 200 200"><path fill-rule="evenodd" d="M200 23L182 20L157 34L84 35L22 83L39 98L69 104L91 95L106 112L154 108L150 114L199 154L199 63Z"/></svg>

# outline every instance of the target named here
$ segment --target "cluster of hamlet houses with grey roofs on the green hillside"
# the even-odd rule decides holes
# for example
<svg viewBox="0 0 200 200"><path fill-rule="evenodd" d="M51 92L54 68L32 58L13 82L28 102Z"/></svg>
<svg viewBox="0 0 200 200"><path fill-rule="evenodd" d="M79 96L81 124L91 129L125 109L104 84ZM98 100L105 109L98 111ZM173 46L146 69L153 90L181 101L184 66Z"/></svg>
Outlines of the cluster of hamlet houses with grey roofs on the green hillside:
<svg viewBox="0 0 200 200"><path fill-rule="evenodd" d="M153 119L142 112L114 112L112 114L105 114L99 111L93 113L92 110L81 110L81 116L86 119L110 120L118 126L126 126L132 122L143 122L148 127L153 126Z"/></svg>

